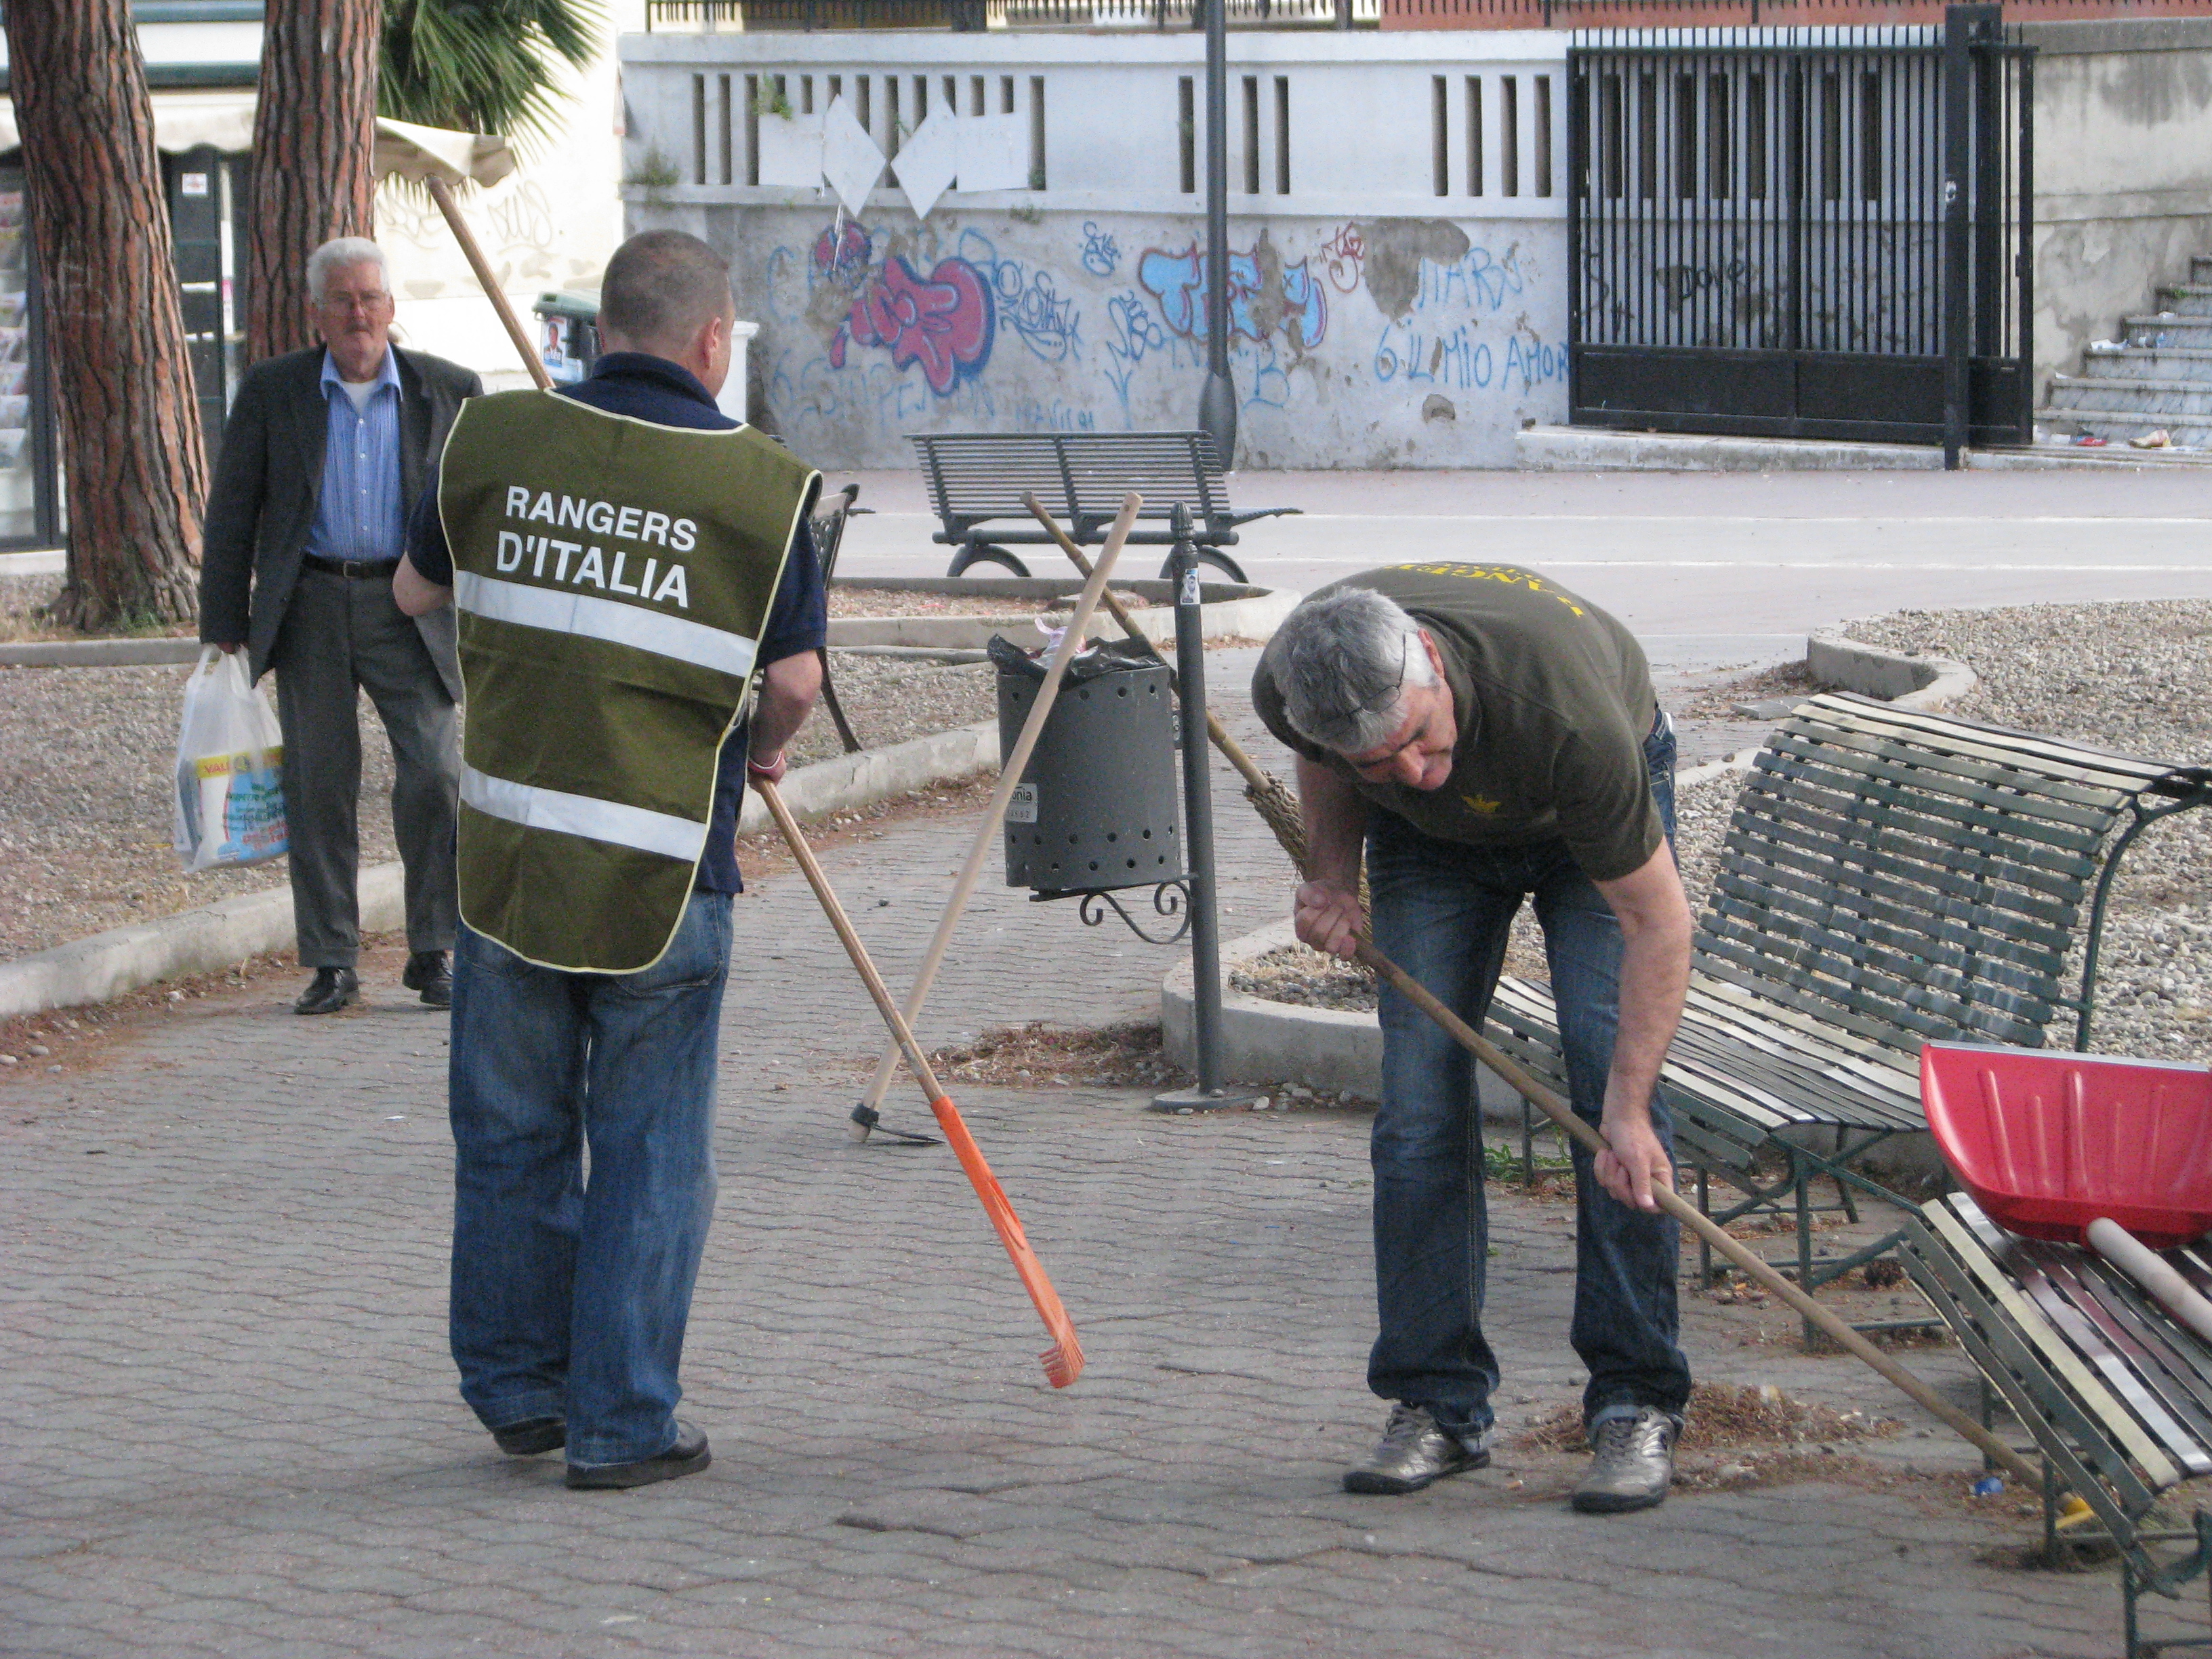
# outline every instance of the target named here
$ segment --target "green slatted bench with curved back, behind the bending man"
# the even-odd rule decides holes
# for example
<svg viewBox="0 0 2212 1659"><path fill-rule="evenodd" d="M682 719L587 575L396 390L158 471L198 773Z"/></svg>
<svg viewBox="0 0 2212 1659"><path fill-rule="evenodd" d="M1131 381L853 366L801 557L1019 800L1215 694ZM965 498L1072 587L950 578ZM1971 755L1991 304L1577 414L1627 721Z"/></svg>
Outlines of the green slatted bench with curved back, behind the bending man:
<svg viewBox="0 0 2212 1659"><path fill-rule="evenodd" d="M1927 1040L2039 1048L2073 1011L2086 1048L2119 858L2208 799L2201 768L1865 697L1801 703L1736 799L1659 1079L1699 1208L1712 1214L1721 1175L1743 1199L1717 1221L1794 1212L1796 1261L1781 1265L1807 1287L1885 1254L1896 1234L1816 1261L1812 1181L1834 1179L1854 1221L1854 1190L1909 1208L1856 1166L1927 1128ZM1502 980L1489 1018L1564 1088L1546 984Z"/></svg>

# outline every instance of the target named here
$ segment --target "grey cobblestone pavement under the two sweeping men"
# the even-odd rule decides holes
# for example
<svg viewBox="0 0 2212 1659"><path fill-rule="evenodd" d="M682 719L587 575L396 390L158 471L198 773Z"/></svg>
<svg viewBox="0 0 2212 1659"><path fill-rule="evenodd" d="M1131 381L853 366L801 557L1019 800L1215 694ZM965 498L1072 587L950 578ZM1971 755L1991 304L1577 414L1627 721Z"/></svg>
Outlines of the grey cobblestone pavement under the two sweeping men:
<svg viewBox="0 0 2212 1659"><path fill-rule="evenodd" d="M1287 880L1223 792L1225 933ZM894 984L971 821L830 852ZM445 1018L389 984L296 1020L246 987L0 1086L0 1650L22 1655L1809 1655L2117 1650L2110 1571L2002 1564L1971 1458L1918 1480L1566 1511L1575 1460L1400 1500L1338 1489L1383 1407L1365 1119L1155 1117L1130 1093L962 1106L1088 1371L942 1148L856 1146L878 1031L794 874L739 907L721 1208L686 1360L714 1467L571 1493L500 1458L442 1340ZM931 1040L1155 1004L1166 953L987 887ZM920 1106L898 1113L918 1121ZM1575 1398L1568 1212L1502 1194L1509 1420ZM1717 1380L1920 1420L1774 1314L1686 1303ZM1913 1365L1960 1398L1955 1354ZM1843 1460L1838 1462L1843 1467ZM1513 1484L1520 1480L1522 1484Z"/></svg>

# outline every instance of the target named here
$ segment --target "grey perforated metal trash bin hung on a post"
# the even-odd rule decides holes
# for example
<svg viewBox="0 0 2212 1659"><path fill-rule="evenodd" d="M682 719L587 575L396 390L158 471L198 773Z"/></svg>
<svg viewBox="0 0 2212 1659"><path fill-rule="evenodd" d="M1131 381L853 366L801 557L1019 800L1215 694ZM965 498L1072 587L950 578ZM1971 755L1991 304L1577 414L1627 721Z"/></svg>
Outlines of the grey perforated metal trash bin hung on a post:
<svg viewBox="0 0 2212 1659"><path fill-rule="evenodd" d="M1002 637L991 639L991 661L1004 759L1044 684L1044 664ZM1128 639L1084 653L1068 664L1006 810L1006 885L1037 898L1179 885L1177 816L1168 666Z"/></svg>

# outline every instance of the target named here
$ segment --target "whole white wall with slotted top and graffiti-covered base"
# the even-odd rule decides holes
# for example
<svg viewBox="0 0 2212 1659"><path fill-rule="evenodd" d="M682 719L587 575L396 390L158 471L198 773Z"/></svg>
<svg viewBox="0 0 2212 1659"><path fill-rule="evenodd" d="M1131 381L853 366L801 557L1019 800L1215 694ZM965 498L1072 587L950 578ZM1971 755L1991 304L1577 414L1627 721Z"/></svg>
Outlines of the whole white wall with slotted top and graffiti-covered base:
<svg viewBox="0 0 2212 1659"><path fill-rule="evenodd" d="M1564 38L1279 35L1230 49L1239 462L1513 465L1513 434L1566 407ZM630 228L695 230L732 257L741 307L761 325L757 418L810 460L911 465L909 431L1194 425L1203 208L1181 188L1179 131L1179 80L1201 73L1194 38L648 35L622 51ZM832 73L843 88L872 75L885 148L894 75L907 86L951 75L956 91L982 75L993 106L1011 77L1042 126L1033 177L1046 188L956 188L918 219L891 184L858 217L825 188L748 186L759 139L743 77L779 73L794 108L825 106ZM1243 122L1245 75L1256 131ZM1520 113L1513 197L1500 177L1504 75ZM1553 117L1542 139L1537 75ZM1486 91L1482 192L1469 77ZM1248 144L1259 192L1241 188ZM1548 179L1540 153L1553 157ZM1540 184L1551 192L1535 195Z"/></svg>

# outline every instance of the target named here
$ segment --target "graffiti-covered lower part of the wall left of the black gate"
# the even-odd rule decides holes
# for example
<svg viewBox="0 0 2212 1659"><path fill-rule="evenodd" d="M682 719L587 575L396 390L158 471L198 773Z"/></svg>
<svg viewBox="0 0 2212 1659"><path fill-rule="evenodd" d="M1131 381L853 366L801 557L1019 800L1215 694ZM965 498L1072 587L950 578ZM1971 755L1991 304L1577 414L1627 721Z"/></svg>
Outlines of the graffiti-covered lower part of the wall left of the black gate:
<svg viewBox="0 0 2212 1659"><path fill-rule="evenodd" d="M894 230L841 215L772 246L754 265L770 418L794 442L872 465L920 427L1186 425L1208 356L1203 239L1026 223ZM1564 349L1544 338L1557 299L1524 241L1484 243L1451 221L1265 228L1225 274L1232 376L1270 456L1356 420L1356 442L1387 465L1389 431L1405 442L1407 425L1464 420L1467 394L1520 400L1566 378Z"/></svg>

